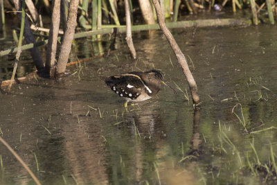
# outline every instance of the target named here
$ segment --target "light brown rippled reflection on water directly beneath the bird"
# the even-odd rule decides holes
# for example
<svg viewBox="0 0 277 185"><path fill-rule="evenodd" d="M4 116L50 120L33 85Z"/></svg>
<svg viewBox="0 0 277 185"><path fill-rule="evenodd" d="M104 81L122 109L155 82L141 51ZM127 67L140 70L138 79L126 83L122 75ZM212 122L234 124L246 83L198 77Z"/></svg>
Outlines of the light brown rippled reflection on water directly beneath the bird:
<svg viewBox="0 0 277 185"><path fill-rule="evenodd" d="M155 167L157 159L166 156L170 150L166 144L166 125L161 119L161 109L151 104L152 100L140 103L140 109L130 110L125 114L123 127L129 127L129 133L134 139L134 151L129 166L134 171L136 183L145 184L156 181ZM128 107L129 108L129 107ZM159 168L159 167L157 167ZM153 180L154 178L154 180ZM151 179L151 180L150 180Z"/></svg>

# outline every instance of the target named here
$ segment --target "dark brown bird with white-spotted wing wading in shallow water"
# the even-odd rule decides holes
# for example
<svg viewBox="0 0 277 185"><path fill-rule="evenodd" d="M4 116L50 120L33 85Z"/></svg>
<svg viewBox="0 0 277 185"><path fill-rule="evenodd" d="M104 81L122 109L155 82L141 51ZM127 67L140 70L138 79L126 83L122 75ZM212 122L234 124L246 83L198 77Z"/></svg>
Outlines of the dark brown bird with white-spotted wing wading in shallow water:
<svg viewBox="0 0 277 185"><path fill-rule="evenodd" d="M100 78L104 80L107 87L114 93L127 100L124 107L127 107L129 101L136 103L152 98L159 92L162 83L170 87L163 80L163 73L155 69L144 72L120 73L116 76ZM173 89L172 87L170 88ZM175 89L173 91L176 94Z"/></svg>

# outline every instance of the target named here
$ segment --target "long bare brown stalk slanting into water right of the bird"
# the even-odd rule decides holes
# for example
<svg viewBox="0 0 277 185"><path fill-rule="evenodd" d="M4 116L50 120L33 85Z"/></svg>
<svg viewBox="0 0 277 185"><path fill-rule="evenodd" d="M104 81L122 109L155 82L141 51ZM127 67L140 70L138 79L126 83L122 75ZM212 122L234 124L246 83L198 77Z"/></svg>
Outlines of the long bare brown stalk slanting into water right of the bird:
<svg viewBox="0 0 277 185"><path fill-rule="evenodd" d="M161 30L163 31L163 34L166 36L166 39L168 39L168 42L170 46L172 47L175 56L181 65L183 72L186 76L186 80L188 81L188 86L190 87L190 93L193 96L193 103L195 105L198 105L200 103L200 98L197 93L197 85L195 82L195 79L193 78L192 73L190 72L190 69L188 68L188 62L186 62L186 58L184 54L181 52L181 49L179 48L177 42L175 41L173 35L170 33L170 30L166 27L165 18L163 17L163 12L161 10L161 6L159 4L158 0L152 0L154 7L157 12L157 18L159 21L159 26L161 27Z"/></svg>

